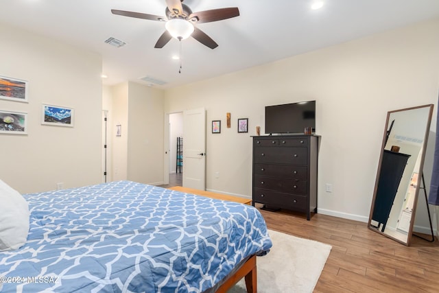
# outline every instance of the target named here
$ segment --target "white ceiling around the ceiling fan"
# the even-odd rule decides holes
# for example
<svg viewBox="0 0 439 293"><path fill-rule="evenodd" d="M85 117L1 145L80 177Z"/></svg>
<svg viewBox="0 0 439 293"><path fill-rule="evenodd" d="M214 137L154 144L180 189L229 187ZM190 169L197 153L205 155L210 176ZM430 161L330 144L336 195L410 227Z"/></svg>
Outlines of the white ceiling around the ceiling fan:
<svg viewBox="0 0 439 293"><path fill-rule="evenodd" d="M198 24L219 47L183 40L181 73L180 61L171 59L178 40L154 49L165 23L110 12L165 16L165 0L1 0L0 23L97 52L108 75L104 84L150 76L167 82L154 86L166 88L439 17L439 0L324 0L323 8L311 10L313 1L185 0L193 12L236 6L241 15ZM104 43L109 37L127 45L112 47Z"/></svg>

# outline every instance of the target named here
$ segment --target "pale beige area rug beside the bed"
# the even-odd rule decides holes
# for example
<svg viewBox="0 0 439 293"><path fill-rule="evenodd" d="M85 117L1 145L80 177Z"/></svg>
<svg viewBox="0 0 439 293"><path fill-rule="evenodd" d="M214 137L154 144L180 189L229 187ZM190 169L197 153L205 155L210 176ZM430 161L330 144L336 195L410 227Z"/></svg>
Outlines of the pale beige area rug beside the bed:
<svg viewBox="0 0 439 293"><path fill-rule="evenodd" d="M259 293L311 293L316 287L332 246L269 230L273 247L257 257ZM228 293L245 293L244 279Z"/></svg>

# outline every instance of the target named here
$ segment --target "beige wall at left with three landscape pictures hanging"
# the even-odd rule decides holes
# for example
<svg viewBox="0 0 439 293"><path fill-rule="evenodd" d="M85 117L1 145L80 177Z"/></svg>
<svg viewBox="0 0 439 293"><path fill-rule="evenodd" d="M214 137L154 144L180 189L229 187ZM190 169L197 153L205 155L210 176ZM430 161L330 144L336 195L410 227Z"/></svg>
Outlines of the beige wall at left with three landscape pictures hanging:
<svg viewBox="0 0 439 293"><path fill-rule="evenodd" d="M29 82L29 103L0 99L28 119L27 135L0 134L0 178L22 193L100 183L100 56L2 24L0 36L0 75ZM43 103L74 108L74 127L41 125Z"/></svg>

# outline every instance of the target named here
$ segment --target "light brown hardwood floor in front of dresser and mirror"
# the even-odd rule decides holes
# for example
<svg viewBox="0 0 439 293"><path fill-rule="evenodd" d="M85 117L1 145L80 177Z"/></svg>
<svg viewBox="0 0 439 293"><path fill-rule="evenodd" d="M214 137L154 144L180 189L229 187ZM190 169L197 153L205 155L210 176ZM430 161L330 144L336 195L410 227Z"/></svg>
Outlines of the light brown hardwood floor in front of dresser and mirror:
<svg viewBox="0 0 439 293"><path fill-rule="evenodd" d="M439 292L438 239L412 237L407 247L363 222L320 214L307 221L287 211L260 211L272 230L332 246L314 292Z"/></svg>

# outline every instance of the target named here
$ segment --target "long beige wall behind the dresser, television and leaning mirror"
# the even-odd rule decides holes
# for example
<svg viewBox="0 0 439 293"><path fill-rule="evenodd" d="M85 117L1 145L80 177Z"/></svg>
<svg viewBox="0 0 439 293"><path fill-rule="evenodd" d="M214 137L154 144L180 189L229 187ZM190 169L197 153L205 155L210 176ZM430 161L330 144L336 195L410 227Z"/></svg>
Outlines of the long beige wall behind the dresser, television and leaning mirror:
<svg viewBox="0 0 439 293"><path fill-rule="evenodd" d="M436 19L169 89L165 111L204 106L207 189L251 196L250 135L256 126L264 132L264 106L316 99L318 211L367 221L387 111L435 104L436 117L438 32ZM237 133L238 118L249 119L248 134ZM216 119L221 134L210 132ZM431 176L431 166L425 174ZM325 183L333 184L332 193Z"/></svg>

